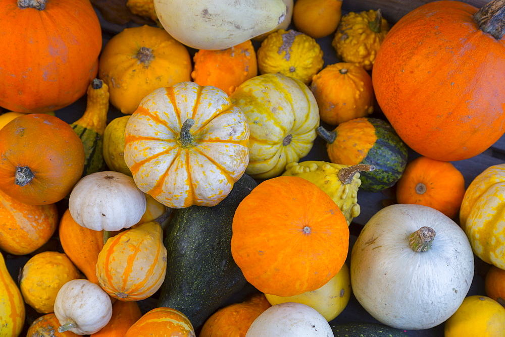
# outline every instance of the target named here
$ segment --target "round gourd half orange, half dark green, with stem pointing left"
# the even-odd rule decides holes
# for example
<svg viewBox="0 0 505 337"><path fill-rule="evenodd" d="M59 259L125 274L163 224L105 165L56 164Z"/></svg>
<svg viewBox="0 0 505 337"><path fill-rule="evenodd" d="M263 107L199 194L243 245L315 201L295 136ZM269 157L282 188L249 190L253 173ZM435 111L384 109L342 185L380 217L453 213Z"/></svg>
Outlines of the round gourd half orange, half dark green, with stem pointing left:
<svg viewBox="0 0 505 337"><path fill-rule="evenodd" d="M357 118L333 131L320 126L317 133L327 142L331 162L375 166L375 171L361 173L361 190L378 192L393 186L407 165L407 145L384 120Z"/></svg>

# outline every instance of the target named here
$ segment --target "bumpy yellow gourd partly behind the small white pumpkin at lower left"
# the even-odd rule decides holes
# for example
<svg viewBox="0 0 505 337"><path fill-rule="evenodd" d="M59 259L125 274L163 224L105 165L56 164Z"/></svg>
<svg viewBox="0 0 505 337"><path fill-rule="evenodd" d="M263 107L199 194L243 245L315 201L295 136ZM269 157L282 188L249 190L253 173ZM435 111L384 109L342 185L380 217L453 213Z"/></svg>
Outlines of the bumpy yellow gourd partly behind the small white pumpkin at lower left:
<svg viewBox="0 0 505 337"><path fill-rule="evenodd" d="M19 287L28 305L38 313L47 314L53 312L60 288L77 278L80 278L79 270L67 255L45 251L26 262Z"/></svg>

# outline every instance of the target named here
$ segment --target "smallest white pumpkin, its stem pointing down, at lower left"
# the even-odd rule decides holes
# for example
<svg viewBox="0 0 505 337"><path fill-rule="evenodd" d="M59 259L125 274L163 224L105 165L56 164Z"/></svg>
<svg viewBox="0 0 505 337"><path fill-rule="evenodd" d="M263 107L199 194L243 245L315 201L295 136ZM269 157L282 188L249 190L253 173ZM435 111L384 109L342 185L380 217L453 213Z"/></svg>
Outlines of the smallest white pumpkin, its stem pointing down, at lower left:
<svg viewBox="0 0 505 337"><path fill-rule="evenodd" d="M56 295L55 315L59 332L92 334L102 329L112 317L112 302L100 286L87 279L73 279Z"/></svg>

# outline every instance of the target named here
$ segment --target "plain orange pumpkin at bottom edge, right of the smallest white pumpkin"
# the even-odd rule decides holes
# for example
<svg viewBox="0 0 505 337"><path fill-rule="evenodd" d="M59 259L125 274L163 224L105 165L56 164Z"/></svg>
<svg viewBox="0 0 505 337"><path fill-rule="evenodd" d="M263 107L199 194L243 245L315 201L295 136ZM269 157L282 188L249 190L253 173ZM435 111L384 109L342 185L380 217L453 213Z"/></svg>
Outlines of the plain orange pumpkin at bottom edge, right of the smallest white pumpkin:
<svg viewBox="0 0 505 337"><path fill-rule="evenodd" d="M126 331L142 317L137 302L116 301L112 305L112 317L102 329L90 337L124 337Z"/></svg>

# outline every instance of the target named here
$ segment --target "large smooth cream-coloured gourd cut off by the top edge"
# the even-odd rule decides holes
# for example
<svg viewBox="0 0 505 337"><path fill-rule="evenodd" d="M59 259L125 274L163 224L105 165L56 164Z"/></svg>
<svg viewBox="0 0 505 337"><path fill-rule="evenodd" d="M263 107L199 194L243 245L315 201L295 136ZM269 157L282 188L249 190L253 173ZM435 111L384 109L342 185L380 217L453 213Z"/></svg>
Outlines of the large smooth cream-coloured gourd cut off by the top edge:
<svg viewBox="0 0 505 337"><path fill-rule="evenodd" d="M284 21L282 0L155 0L163 28L195 49L226 49Z"/></svg>

